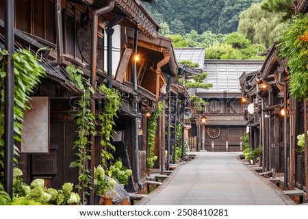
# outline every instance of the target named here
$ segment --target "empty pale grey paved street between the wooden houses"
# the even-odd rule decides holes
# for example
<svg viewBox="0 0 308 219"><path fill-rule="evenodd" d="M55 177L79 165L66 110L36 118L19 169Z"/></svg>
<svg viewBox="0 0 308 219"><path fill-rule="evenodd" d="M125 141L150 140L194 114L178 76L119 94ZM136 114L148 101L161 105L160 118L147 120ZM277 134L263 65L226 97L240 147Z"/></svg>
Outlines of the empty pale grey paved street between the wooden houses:
<svg viewBox="0 0 308 219"><path fill-rule="evenodd" d="M197 153L137 205L294 205L238 153Z"/></svg>

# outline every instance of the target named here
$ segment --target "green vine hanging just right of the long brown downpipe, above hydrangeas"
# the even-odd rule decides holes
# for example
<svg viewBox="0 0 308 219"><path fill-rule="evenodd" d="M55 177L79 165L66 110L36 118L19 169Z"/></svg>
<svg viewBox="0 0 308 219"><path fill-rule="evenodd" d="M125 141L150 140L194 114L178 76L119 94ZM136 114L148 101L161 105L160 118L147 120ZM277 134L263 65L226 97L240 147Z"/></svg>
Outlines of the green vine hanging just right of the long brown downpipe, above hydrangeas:
<svg viewBox="0 0 308 219"><path fill-rule="evenodd" d="M112 131L114 125L114 118L117 118L116 112L121 105L121 94L116 92L114 88L107 88L104 84L101 84L98 88L100 92L107 97L105 101L104 110L97 118L101 122L101 164L107 172L107 160L113 159L110 149L115 150L114 145L111 144Z"/></svg>

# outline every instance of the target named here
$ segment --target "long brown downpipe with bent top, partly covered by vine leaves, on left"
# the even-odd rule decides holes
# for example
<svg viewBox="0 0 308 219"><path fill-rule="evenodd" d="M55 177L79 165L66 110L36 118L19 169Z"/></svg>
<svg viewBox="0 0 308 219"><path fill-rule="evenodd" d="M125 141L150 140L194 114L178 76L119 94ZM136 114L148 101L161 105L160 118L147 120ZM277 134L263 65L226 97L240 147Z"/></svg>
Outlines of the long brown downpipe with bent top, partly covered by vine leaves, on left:
<svg viewBox="0 0 308 219"><path fill-rule="evenodd" d="M96 88L96 82L97 82L97 31L98 31L98 22L99 22L99 16L102 14L106 14L114 9L114 2L115 0L108 1L108 4L103 7L99 8L98 10L95 10L92 14L92 42L91 42L91 75L90 75L90 83L95 90ZM91 96L91 112L92 114L95 114L95 95L92 94ZM92 179L94 179L94 164L95 164L95 136L91 136L91 162L90 162L90 168L92 171L90 171L90 175ZM94 188L94 181L90 182L90 188ZM90 205L94 205L94 190L90 190Z"/></svg>

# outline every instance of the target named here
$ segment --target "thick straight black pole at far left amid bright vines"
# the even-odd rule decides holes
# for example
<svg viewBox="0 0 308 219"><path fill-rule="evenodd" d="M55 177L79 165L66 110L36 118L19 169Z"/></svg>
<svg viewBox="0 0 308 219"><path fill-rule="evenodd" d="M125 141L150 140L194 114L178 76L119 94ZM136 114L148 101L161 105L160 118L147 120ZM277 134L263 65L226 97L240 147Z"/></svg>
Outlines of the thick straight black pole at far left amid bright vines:
<svg viewBox="0 0 308 219"><path fill-rule="evenodd" d="M5 0L5 110L4 110L4 190L13 198L13 151L14 151L14 0Z"/></svg>

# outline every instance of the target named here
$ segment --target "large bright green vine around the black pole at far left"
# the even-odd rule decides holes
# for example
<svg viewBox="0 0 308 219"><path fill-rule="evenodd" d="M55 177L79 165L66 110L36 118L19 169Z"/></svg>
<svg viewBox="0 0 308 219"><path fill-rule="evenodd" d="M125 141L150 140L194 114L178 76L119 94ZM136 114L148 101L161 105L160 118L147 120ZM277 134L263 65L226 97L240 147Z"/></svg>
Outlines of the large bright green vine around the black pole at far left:
<svg viewBox="0 0 308 219"><path fill-rule="evenodd" d="M0 178L3 176L4 168L4 87L5 87L5 55L8 51L0 49ZM13 54L14 60L14 140L21 142L23 134L23 118L25 111L31 106L27 105L31 100L31 94L40 83L42 77L46 77L44 68L38 63L36 56L27 49L21 49ZM19 151L14 146L14 155ZM16 162L16 160L15 160Z"/></svg>

